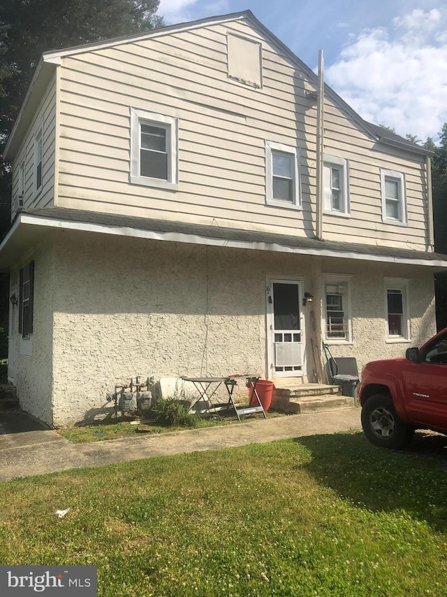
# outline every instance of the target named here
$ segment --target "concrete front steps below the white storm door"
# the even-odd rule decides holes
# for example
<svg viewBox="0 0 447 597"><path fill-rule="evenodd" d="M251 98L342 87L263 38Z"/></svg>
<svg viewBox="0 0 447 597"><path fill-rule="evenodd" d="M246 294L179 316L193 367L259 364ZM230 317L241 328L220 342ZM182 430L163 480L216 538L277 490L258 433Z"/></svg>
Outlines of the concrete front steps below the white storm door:
<svg viewBox="0 0 447 597"><path fill-rule="evenodd" d="M343 396L340 386L324 384L288 384L276 387L272 396L272 408L290 413L325 412L353 406L353 398Z"/></svg>

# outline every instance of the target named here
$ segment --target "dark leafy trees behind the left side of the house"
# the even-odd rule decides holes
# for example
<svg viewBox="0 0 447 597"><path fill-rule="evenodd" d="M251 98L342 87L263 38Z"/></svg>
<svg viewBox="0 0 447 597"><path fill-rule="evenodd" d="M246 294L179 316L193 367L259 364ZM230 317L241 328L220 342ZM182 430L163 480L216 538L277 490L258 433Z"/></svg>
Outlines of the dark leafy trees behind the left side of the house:
<svg viewBox="0 0 447 597"><path fill-rule="evenodd" d="M45 50L161 27L158 8L159 0L1 0L0 155ZM10 223L10 178L0 158L0 238ZM7 297L8 276L1 274L0 358L6 356Z"/></svg>

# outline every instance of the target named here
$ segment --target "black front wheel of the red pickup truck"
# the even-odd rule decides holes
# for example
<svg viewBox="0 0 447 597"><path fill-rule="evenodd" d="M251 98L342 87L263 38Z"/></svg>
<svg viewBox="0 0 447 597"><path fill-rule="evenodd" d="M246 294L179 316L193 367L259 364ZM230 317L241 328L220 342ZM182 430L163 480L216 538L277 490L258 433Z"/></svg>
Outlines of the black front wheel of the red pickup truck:
<svg viewBox="0 0 447 597"><path fill-rule="evenodd" d="M406 446L414 433L413 427L399 419L392 398L386 394L375 394L365 402L362 428L372 444L393 449Z"/></svg>

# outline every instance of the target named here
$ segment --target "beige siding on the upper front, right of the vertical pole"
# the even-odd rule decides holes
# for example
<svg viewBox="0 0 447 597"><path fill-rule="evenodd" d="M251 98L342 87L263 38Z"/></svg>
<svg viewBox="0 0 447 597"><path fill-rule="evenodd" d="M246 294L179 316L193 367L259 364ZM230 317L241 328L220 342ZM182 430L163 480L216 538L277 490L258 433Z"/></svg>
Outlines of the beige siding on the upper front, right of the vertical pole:
<svg viewBox="0 0 447 597"><path fill-rule="evenodd" d="M325 103L325 153L349 160L351 218L323 216L328 240L424 250L428 246L425 157L377 143L329 101ZM408 225L383 223L381 169L404 174ZM346 225L347 224L347 225Z"/></svg>

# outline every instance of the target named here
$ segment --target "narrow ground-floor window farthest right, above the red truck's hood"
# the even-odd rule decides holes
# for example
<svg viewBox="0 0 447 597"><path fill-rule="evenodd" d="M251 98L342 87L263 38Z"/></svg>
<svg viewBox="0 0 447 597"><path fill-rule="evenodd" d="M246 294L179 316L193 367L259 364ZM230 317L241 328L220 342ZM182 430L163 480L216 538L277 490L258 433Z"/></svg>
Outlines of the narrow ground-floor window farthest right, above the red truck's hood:
<svg viewBox="0 0 447 597"><path fill-rule="evenodd" d="M410 339L408 280L385 278L386 331L388 342Z"/></svg>

